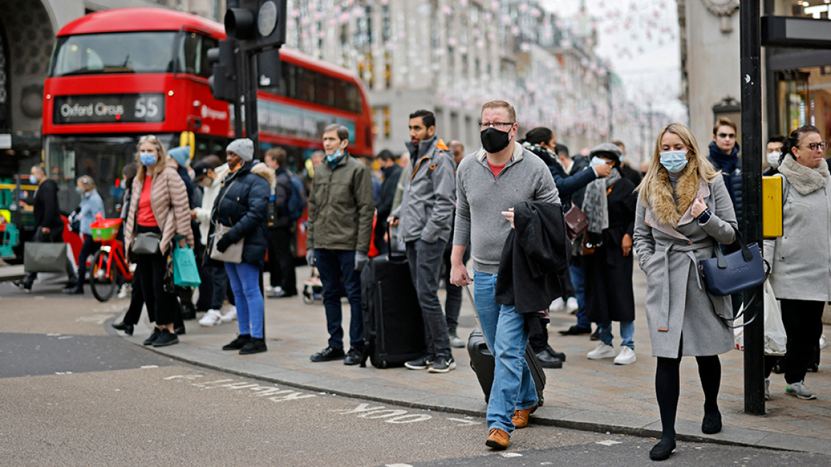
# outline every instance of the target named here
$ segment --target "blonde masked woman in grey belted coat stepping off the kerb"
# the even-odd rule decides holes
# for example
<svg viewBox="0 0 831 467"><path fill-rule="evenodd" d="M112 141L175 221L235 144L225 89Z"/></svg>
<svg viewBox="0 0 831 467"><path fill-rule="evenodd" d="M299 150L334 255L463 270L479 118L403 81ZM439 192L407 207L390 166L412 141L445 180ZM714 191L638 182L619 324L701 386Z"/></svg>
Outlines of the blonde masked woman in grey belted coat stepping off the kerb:
<svg viewBox="0 0 831 467"><path fill-rule="evenodd" d="M704 390L701 430L721 430L717 398L718 354L733 348L733 333L715 312L732 315L730 297L709 296L698 261L715 256L717 243L735 240L735 213L722 177L701 155L684 125L666 125L639 190L635 253L647 273L647 322L658 361L655 392L661 409L661 441L649 453L666 460L675 449L681 356L695 356Z"/></svg>

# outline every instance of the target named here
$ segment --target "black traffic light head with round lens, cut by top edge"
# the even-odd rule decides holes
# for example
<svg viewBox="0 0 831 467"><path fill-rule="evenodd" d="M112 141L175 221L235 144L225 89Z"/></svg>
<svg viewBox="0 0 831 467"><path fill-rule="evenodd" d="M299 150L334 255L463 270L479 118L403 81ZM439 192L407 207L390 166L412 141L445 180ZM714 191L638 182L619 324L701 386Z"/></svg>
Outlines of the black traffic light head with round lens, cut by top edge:
<svg viewBox="0 0 831 467"><path fill-rule="evenodd" d="M286 42L286 0L239 0L225 12L225 32L246 50L279 48Z"/></svg>

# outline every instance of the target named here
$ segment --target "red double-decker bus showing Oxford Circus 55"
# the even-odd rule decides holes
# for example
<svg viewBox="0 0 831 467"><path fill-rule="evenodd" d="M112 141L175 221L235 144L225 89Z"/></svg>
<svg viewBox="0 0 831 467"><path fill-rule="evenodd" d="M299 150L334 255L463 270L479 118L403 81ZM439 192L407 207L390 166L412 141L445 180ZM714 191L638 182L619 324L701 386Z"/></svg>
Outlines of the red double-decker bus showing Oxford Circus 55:
<svg viewBox="0 0 831 467"><path fill-rule="evenodd" d="M135 159L141 135L155 135L168 149L192 144L195 160L224 158L234 111L211 94L207 58L224 38L218 22L163 8L95 12L58 32L42 133L63 209L79 202L77 177L91 175L114 215L121 170ZM258 94L260 150L281 146L302 170L322 149L323 128L340 123L350 130L352 154L371 156L371 111L358 77L286 48L279 53L279 82Z"/></svg>

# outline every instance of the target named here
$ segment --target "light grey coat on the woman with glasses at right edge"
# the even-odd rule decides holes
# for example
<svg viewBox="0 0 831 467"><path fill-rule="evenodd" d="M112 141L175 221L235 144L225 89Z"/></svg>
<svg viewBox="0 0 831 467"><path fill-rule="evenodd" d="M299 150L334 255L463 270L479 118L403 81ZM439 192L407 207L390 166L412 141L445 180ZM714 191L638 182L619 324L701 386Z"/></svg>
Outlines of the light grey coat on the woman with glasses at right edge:
<svg viewBox="0 0 831 467"><path fill-rule="evenodd" d="M786 160L789 165L797 164L790 156ZM828 170L824 174L827 177ZM765 240L765 259L771 266L770 286L780 300L828 302L831 300L831 178L825 178L823 186L816 188L816 184L806 186L803 180L789 180L781 173L777 176L782 177L784 194L783 230L781 237Z"/></svg>

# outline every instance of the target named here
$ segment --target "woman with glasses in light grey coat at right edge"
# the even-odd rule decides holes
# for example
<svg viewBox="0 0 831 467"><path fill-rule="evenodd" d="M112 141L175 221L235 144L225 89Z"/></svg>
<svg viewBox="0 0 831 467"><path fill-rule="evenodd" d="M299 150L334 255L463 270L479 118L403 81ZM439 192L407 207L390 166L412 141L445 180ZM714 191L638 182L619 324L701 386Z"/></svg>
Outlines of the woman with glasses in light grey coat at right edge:
<svg viewBox="0 0 831 467"><path fill-rule="evenodd" d="M817 397L804 384L805 371L823 332L825 302L831 300L831 177L823 158L826 148L828 143L812 125L794 130L784 140L778 175L782 178L783 235L765 240L770 285L782 301L782 323L788 335L785 393L800 399Z"/></svg>

